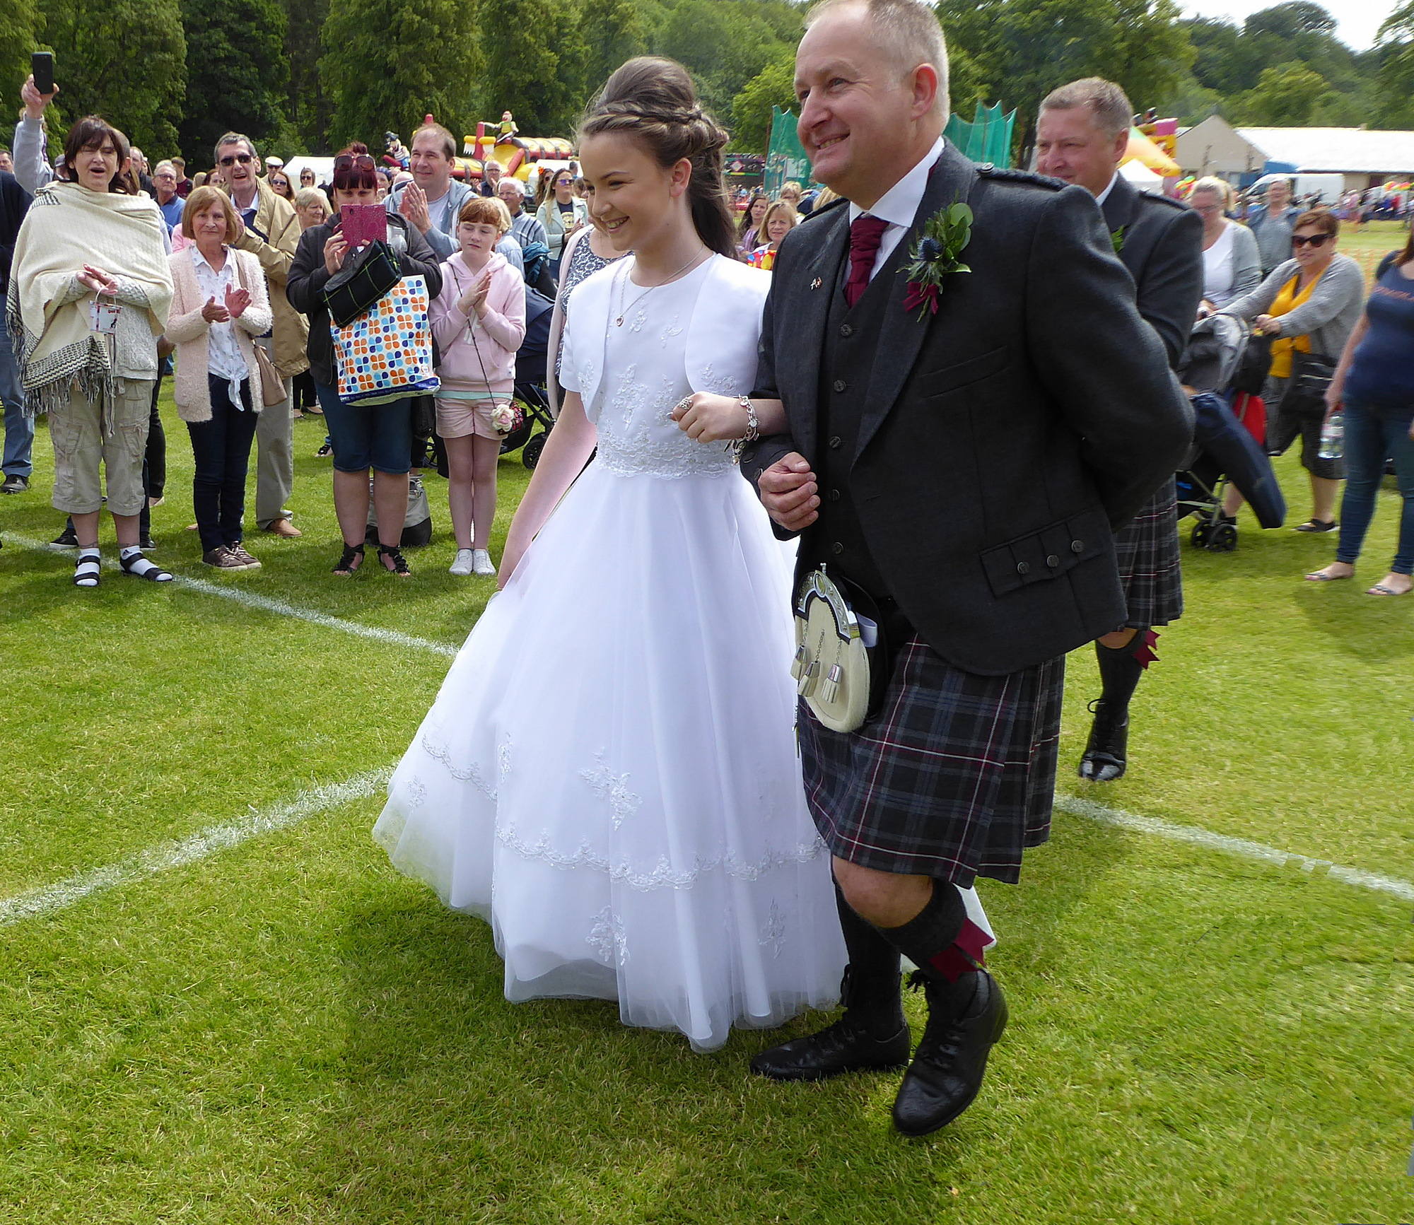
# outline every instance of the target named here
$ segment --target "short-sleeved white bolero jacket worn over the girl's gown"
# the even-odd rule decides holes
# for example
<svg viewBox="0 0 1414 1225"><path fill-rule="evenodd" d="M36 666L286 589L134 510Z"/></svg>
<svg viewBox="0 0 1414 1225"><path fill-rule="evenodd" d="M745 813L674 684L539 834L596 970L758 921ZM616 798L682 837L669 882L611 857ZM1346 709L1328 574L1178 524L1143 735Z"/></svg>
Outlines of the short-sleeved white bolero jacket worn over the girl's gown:
<svg viewBox="0 0 1414 1225"><path fill-rule="evenodd" d="M614 274L621 263L601 267L574 289L566 328L584 407L592 409L604 383L604 351ZM756 378L761 313L771 290L771 273L727 259L711 257L707 280L687 327L686 375L694 392L745 396ZM592 416L592 413L591 413Z"/></svg>

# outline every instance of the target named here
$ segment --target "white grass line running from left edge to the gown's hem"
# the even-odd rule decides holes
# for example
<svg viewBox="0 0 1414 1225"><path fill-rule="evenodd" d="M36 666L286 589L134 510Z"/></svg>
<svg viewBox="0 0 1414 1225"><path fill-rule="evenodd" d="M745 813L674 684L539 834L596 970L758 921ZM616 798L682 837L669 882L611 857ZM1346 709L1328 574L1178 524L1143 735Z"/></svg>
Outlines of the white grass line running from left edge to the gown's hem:
<svg viewBox="0 0 1414 1225"><path fill-rule="evenodd" d="M331 808L339 808L355 799L366 799L386 786L387 779L392 777L392 768L385 767L368 774L356 774L344 782L311 786L307 791L301 791L293 799L281 801L264 811L208 826L188 837L158 843L117 863L96 867L90 871L81 871L78 876L55 881L44 888L30 890L18 897L0 900L0 927L54 914L82 901L90 894L132 884L133 881L157 876L158 873L170 871L174 867L182 867L188 863L197 863L266 833L290 829Z"/></svg>

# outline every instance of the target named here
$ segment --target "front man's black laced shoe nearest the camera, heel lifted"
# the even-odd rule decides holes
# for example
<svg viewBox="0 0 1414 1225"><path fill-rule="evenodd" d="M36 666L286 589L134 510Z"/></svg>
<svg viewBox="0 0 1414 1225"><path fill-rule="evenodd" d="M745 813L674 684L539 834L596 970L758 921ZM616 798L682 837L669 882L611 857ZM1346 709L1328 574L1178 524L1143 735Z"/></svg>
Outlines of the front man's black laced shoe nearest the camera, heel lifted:
<svg viewBox="0 0 1414 1225"><path fill-rule="evenodd" d="M946 1127L981 1091L987 1055L1007 1028L1007 1000L986 970L977 970L971 1002L953 1013L949 996L928 990L928 1027L894 1101L894 1126L905 1136Z"/></svg>

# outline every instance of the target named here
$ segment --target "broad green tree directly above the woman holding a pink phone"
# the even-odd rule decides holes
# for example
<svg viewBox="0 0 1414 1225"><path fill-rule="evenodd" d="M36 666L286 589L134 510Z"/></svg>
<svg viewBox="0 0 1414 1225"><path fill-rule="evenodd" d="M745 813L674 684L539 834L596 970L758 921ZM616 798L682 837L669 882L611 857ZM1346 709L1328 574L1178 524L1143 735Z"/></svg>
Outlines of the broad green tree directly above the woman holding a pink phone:
<svg viewBox="0 0 1414 1225"><path fill-rule="evenodd" d="M464 0L331 0L320 59L329 146L376 151L383 132L406 140L428 113L455 132L478 68L474 34Z"/></svg>

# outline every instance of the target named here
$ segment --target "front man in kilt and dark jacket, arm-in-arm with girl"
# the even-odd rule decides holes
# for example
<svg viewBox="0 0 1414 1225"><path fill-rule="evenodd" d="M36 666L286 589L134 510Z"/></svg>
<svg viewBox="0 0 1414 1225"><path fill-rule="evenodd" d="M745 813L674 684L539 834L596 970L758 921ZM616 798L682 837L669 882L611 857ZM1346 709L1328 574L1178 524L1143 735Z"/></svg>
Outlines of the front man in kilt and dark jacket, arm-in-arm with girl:
<svg viewBox="0 0 1414 1225"><path fill-rule="evenodd" d="M789 429L742 468L778 533L803 532L797 577L826 564L892 646L860 728L800 709L846 1010L752 1069L906 1065L894 1122L925 1134L976 1098L1007 1021L970 887L1017 881L1049 835L1065 652L1123 621L1111 526L1175 471L1192 419L1094 198L942 140L933 10L824 0L806 24L800 139L843 199L781 243L754 395ZM970 235L925 250L954 202ZM901 955L929 1010L912 1062Z"/></svg>

